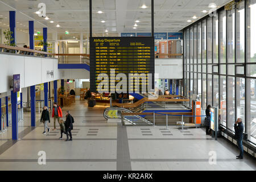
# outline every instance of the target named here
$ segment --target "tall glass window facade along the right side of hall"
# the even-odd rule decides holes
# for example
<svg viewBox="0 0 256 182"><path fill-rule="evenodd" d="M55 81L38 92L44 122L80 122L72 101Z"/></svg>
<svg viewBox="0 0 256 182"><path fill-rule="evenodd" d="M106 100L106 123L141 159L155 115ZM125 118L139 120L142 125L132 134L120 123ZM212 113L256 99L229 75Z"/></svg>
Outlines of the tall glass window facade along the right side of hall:
<svg viewBox="0 0 256 182"><path fill-rule="evenodd" d="M256 143L256 0L184 28L184 96L198 94L202 109L219 108L220 125L234 131L242 118ZM190 102L191 103L191 102Z"/></svg>

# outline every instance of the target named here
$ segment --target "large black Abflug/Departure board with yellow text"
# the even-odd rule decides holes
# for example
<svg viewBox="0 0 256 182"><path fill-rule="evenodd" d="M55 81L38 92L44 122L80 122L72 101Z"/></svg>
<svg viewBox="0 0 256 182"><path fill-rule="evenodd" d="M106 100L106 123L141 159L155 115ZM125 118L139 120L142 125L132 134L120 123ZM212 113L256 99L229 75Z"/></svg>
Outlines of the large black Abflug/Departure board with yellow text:
<svg viewBox="0 0 256 182"><path fill-rule="evenodd" d="M154 37L90 38L90 90L98 91L97 86L101 82L97 80L98 75L106 73L110 78L110 70L113 72L113 69L115 76L118 73L124 73L127 76L127 87L129 73L145 75L151 73L154 88L154 46ZM117 82L115 81L115 85ZM138 89L137 86L133 88L134 92Z"/></svg>

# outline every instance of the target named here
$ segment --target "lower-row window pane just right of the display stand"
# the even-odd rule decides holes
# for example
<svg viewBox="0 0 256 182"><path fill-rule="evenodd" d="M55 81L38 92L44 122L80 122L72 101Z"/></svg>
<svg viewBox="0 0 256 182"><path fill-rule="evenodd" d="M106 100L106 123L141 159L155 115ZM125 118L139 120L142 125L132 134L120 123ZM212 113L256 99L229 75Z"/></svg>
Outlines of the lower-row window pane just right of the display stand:
<svg viewBox="0 0 256 182"><path fill-rule="evenodd" d="M220 76L220 124L226 127L226 76Z"/></svg>

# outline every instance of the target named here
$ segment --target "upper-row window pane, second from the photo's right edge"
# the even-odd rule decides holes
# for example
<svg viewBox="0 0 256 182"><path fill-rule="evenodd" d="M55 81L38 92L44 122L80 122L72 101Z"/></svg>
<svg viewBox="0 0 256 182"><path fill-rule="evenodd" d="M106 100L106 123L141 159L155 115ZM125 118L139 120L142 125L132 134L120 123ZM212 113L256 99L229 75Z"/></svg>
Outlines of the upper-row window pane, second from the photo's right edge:
<svg viewBox="0 0 256 182"><path fill-rule="evenodd" d="M237 11L237 63L245 62L245 2L239 4Z"/></svg>

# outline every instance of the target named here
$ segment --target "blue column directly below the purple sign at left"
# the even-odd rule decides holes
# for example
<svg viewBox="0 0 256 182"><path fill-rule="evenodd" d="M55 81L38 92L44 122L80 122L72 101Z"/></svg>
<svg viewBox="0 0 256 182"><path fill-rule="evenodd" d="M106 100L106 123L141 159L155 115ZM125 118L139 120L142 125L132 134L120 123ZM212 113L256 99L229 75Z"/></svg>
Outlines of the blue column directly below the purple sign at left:
<svg viewBox="0 0 256 182"><path fill-rule="evenodd" d="M11 131L13 135L13 140L18 140L18 101L17 93L11 91Z"/></svg>

